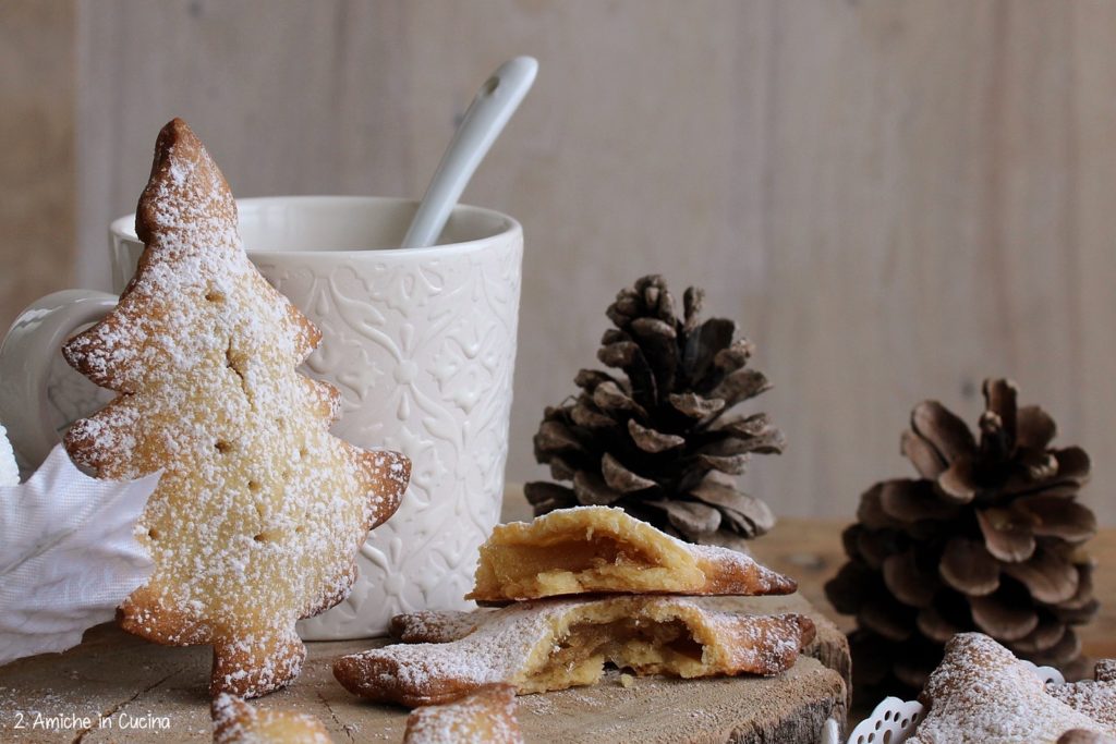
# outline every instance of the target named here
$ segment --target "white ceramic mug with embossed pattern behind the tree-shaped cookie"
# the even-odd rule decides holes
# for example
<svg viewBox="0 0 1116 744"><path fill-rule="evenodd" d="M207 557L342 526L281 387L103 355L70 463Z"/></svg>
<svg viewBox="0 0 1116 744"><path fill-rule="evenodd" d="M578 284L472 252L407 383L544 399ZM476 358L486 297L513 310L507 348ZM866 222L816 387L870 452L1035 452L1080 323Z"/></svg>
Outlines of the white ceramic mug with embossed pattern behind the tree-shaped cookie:
<svg viewBox="0 0 1116 744"><path fill-rule="evenodd" d="M478 548L503 494L522 229L462 205L437 245L401 250L392 247L406 232L413 201L280 196L237 204L252 262L321 330L306 371L341 392L334 433L412 461L398 512L360 549L348 599L301 621L302 637L381 635L397 612L466 608ZM109 229L117 291L143 250L134 222L121 218ZM48 379L59 347L115 302L105 292L56 292L8 332L0 422L25 462L37 463L58 442L51 417L60 402ZM95 408L83 405L68 417Z"/></svg>

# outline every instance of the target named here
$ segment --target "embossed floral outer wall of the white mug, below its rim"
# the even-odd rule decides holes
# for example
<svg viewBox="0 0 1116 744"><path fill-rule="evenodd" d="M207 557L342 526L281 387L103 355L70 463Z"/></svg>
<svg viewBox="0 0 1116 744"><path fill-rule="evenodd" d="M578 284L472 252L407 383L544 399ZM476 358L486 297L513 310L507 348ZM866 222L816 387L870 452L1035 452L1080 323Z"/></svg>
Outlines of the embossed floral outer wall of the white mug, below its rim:
<svg viewBox="0 0 1116 744"><path fill-rule="evenodd" d="M334 432L413 464L398 512L360 550L353 592L304 620L304 637L375 635L398 612L469 606L462 597L503 493L521 258L516 232L421 261L349 254L328 272L312 258L281 268L258 259L323 332L307 367L341 392Z"/></svg>

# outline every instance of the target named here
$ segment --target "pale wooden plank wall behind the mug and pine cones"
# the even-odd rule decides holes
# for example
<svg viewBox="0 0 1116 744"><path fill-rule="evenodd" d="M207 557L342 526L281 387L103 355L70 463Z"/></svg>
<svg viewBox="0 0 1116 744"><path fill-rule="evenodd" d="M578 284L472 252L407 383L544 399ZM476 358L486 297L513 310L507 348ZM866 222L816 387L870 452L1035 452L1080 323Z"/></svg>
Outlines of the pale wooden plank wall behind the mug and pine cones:
<svg viewBox="0 0 1116 744"><path fill-rule="evenodd" d="M2 157L31 168L2 171L0 322L107 283L105 225L170 117L241 196L417 196L484 76L531 54L536 87L465 194L527 232L510 480L541 473L530 437L595 364L613 294L657 271L759 345L790 447L747 479L777 512L849 518L911 473L916 402L975 423L981 379L1007 375L1093 454L1086 501L1116 524L1114 3L39 7L0 8ZM48 189L66 183L76 260Z"/></svg>

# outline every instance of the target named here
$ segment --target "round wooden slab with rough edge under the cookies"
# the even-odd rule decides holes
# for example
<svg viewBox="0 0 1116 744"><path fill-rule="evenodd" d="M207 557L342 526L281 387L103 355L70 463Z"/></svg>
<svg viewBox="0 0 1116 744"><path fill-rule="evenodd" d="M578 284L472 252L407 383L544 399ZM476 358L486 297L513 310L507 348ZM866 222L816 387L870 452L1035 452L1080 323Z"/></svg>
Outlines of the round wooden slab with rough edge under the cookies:
<svg viewBox="0 0 1116 744"><path fill-rule="evenodd" d="M843 677L849 669L845 637L805 599L792 595L702 601L751 612L809 613L818 625L818 640L809 653L825 663L805 657L788 673L767 679L644 677L627 688L613 671L593 687L520 697L526 741L815 742L829 716L844 725ZM354 697L330 671L334 657L384 642L308 644L307 664L295 685L254 704L312 713L338 744L401 742L407 712ZM155 646L114 626L99 626L66 654L0 667L0 741L208 742L209 670L208 648ZM60 729L41 727L51 723Z"/></svg>

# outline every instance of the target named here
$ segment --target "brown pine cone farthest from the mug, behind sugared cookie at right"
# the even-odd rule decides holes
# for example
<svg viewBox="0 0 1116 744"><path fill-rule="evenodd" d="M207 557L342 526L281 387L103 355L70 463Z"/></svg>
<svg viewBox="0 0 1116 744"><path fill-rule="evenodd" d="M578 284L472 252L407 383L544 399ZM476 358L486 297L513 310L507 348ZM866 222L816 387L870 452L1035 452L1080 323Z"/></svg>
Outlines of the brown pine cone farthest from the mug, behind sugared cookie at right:
<svg viewBox="0 0 1116 744"><path fill-rule="evenodd" d="M874 485L844 532L849 561L826 593L856 616L854 688L910 695L968 630L1070 676L1080 666L1071 626L1098 607L1080 548L1096 519L1075 500L1089 457L1051 448L1054 419L1018 408L1013 383L983 390L979 441L940 403L914 409L901 448L921 477Z"/></svg>

